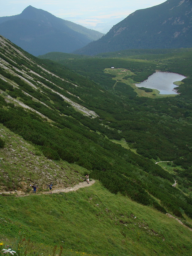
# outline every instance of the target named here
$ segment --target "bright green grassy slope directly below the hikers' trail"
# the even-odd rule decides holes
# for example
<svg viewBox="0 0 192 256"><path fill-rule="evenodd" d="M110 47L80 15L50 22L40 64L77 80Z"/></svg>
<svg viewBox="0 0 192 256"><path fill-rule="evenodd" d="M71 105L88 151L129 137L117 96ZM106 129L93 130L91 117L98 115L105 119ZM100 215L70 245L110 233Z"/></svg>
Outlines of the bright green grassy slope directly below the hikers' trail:
<svg viewBox="0 0 192 256"><path fill-rule="evenodd" d="M192 253L190 230L154 209L111 194L99 182L76 192L1 196L0 216L1 233L15 237L21 230L38 243L62 244L65 250L91 255Z"/></svg>

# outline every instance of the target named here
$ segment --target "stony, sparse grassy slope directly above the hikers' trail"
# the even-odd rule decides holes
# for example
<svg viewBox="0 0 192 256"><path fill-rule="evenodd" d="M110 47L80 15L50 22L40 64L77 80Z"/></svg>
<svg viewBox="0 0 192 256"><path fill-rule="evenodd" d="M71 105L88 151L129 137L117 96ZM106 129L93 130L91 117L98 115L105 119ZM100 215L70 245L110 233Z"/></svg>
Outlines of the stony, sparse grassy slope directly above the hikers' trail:
<svg viewBox="0 0 192 256"><path fill-rule="evenodd" d="M53 182L54 186L68 187L79 181L87 172L75 164L66 161L52 161L46 158L37 147L26 142L21 136L14 134L0 124L1 138L6 145L0 149L0 180L1 191L6 191L11 184L13 189L29 192L29 184L38 184L39 189Z"/></svg>

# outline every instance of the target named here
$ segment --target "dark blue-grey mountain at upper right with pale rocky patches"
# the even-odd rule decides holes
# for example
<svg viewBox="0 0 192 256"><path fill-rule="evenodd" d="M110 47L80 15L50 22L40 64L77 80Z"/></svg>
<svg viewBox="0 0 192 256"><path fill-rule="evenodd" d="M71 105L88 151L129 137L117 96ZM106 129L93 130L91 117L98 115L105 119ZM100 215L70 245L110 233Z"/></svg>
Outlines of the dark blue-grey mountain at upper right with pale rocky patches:
<svg viewBox="0 0 192 256"><path fill-rule="evenodd" d="M168 0L137 10L76 54L96 55L126 49L192 47L192 1Z"/></svg>

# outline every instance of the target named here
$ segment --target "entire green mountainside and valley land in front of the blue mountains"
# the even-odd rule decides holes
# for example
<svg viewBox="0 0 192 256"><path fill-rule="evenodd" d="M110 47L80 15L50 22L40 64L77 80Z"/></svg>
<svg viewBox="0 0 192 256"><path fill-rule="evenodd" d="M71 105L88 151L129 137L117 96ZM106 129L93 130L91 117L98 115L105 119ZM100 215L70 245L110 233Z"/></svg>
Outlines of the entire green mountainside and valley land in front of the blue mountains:
<svg viewBox="0 0 192 256"><path fill-rule="evenodd" d="M190 256L192 49L135 51L138 59L63 54L64 66L2 36L0 46L1 241L17 239L20 256L42 247L56 255L59 245L68 256ZM187 77L177 96L136 88L155 70ZM87 173L93 186L41 193Z"/></svg>

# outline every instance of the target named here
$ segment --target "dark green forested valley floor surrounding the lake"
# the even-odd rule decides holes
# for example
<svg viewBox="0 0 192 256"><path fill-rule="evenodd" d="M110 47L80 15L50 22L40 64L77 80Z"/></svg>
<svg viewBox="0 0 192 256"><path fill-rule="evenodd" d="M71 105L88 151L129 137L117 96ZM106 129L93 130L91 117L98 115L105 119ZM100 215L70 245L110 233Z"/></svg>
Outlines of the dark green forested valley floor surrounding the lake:
<svg viewBox="0 0 192 256"><path fill-rule="evenodd" d="M180 180L177 175L185 177L185 181L180 182L185 184L185 188L191 187L191 149L186 148L186 145L191 144L191 49L127 50L101 54L100 59L78 59L74 55L72 60L72 56L68 59L64 54L62 60L62 54L58 57L58 53L42 57L58 60L96 81L108 93L119 97L119 105L115 108L100 105L101 109L108 112L102 112L100 116L108 121L105 123L107 127L113 129L112 134L108 130L107 136L117 140L125 138L130 148L136 148L145 157L173 161L175 178ZM119 68L111 69L111 66ZM124 69L121 70L120 67ZM164 98L154 90L151 93L141 93L137 89L134 81L147 79L155 70L176 72L187 77L177 87L179 95L167 95ZM116 76L117 74L120 75ZM114 100L110 104L114 104ZM101 113L101 110L98 111Z"/></svg>

